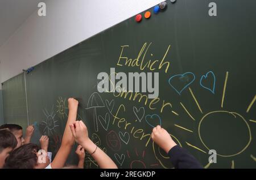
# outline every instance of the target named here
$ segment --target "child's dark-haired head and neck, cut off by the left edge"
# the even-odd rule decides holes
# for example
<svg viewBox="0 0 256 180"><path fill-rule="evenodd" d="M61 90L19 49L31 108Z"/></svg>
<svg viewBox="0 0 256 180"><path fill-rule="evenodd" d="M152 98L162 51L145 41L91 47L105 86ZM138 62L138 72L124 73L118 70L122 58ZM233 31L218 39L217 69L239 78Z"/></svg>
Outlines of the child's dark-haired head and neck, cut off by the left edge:
<svg viewBox="0 0 256 180"><path fill-rule="evenodd" d="M0 169L5 164L6 157L17 145L17 140L9 130L0 130Z"/></svg>

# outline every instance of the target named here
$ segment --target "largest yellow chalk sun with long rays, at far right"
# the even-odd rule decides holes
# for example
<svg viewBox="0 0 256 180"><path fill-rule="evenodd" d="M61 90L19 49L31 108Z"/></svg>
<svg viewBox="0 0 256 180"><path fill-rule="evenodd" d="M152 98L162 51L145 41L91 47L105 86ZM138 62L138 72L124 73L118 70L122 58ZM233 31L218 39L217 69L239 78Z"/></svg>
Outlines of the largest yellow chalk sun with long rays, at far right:
<svg viewBox="0 0 256 180"><path fill-rule="evenodd" d="M197 132L189 130L180 125L174 124L176 128L180 130L187 131L191 134L197 133L199 135L199 140L201 144L191 144L189 142L185 142L188 147L196 149L201 153L205 153L208 155L210 149L216 150L217 157L222 158L232 158L235 156L240 155L241 153L245 152L246 149L252 144L252 135L251 135L251 128L250 123L256 123L253 119L248 119L243 117L241 114L237 112L233 112L232 110L224 109L224 102L225 102L225 93L226 93L226 85L228 82L228 75L229 72L226 72L224 88L222 92L222 97L220 98L221 101L221 109L213 110L211 112L204 113L200 107L199 102L196 99L192 89L189 87L189 93L191 94L193 100L197 108L199 109L200 113L202 114L201 118L193 117L193 114L189 112L189 109L185 108L184 104L180 102L181 108L183 108L184 112L191 118L193 123L197 123ZM253 106L256 100L256 95L254 95L253 100L250 101L249 106L247 107L246 113L250 112L251 107ZM197 120L198 119L198 120ZM171 135L174 141L179 144L179 140L175 138L175 136ZM199 148L199 147L204 147ZM165 153L161 153L161 150L155 147L153 143L153 151L155 153L156 159L160 162L163 168L170 168L167 167L168 156L164 156ZM210 156L210 155L208 155ZM250 155L250 158L253 161L256 161L254 155ZM204 166L204 168L209 168L212 164L212 160ZM230 159L230 168L235 168L235 161L234 159Z"/></svg>

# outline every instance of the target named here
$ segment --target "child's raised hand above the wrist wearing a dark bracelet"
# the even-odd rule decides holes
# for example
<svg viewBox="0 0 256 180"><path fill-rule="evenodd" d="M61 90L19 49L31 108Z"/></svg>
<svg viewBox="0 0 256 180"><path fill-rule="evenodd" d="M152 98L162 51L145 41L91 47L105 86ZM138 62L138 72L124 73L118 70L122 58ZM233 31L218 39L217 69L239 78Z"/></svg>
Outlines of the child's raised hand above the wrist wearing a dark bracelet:
<svg viewBox="0 0 256 180"><path fill-rule="evenodd" d="M77 143L85 144L88 142L88 140L90 140L88 137L88 130L84 122L76 121L72 125L69 125L69 127L71 128L72 135Z"/></svg>

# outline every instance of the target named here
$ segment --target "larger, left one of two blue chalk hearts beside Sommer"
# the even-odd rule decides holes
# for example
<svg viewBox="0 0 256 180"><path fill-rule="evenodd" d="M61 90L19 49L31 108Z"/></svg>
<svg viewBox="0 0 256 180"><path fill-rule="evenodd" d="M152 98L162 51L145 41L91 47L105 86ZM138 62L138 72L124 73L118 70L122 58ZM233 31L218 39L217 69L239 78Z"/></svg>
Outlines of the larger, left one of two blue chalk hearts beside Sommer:
<svg viewBox="0 0 256 180"><path fill-rule="evenodd" d="M188 81L187 83L183 84L181 87L181 89L177 89L177 87L174 87L174 84L172 84L172 81L176 78L179 78L179 80L185 79L185 78L189 78L189 76L192 76L192 80ZM172 88L174 88L174 90L180 95L181 92L187 88L191 83L194 82L194 80L196 79L195 74L193 74L193 72L186 72L184 74L177 74L172 76L169 80L168 83L171 85Z"/></svg>

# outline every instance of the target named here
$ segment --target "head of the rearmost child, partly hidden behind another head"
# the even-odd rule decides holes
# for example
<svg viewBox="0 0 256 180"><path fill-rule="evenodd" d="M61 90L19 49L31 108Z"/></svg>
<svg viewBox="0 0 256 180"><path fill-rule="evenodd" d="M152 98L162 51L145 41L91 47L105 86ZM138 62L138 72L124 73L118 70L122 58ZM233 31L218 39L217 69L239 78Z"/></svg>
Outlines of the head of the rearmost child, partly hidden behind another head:
<svg viewBox="0 0 256 180"><path fill-rule="evenodd" d="M14 134L14 136L18 142L16 148L18 148L24 144L23 132L22 132L21 126L14 125L14 124L5 124L5 125L0 126L0 130L3 130L3 129L8 129Z"/></svg>

